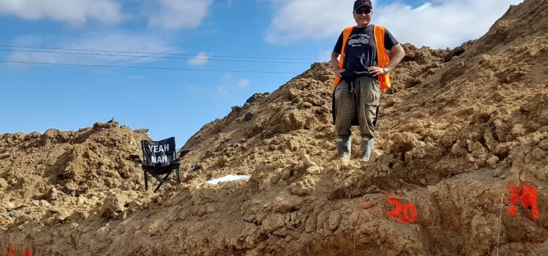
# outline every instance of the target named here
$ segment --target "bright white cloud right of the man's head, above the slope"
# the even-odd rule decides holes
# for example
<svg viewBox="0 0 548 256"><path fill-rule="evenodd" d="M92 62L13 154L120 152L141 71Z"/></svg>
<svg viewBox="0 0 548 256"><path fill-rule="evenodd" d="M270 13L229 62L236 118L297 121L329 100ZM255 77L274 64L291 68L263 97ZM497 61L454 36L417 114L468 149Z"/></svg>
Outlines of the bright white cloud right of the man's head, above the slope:
<svg viewBox="0 0 548 256"><path fill-rule="evenodd" d="M522 0L446 0L415 9L395 3L381 6L374 21L384 24L401 43L453 48L483 36L510 4L520 2Z"/></svg>

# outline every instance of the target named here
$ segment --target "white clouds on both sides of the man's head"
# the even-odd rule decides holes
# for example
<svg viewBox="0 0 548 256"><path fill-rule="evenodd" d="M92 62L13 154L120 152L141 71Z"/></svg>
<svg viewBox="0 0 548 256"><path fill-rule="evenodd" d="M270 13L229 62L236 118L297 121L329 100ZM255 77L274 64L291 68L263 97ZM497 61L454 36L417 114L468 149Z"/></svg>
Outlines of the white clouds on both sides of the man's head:
<svg viewBox="0 0 548 256"><path fill-rule="evenodd" d="M270 1L278 10L265 35L269 43L322 38L335 41L342 28L355 24L352 0ZM483 36L510 4L522 1L433 0L415 8L401 1L380 6L373 1L373 23L386 26L401 43L418 47L455 47Z"/></svg>

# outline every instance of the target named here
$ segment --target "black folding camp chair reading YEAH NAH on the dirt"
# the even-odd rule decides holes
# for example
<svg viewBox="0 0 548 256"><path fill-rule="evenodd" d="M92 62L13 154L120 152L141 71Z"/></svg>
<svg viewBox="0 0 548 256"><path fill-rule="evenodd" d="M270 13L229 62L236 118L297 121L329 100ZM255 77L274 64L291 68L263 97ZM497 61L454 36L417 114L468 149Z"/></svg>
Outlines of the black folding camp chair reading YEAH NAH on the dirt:
<svg viewBox="0 0 548 256"><path fill-rule="evenodd" d="M162 139L161 141L141 141L143 151L143 160L137 155L131 155L130 159L137 164L141 164L144 171L144 190L149 188L148 179L150 176L159 181L158 186L154 189L154 193L158 191L160 186L165 185L169 174L175 171L177 184L181 183L179 178L179 160L189 153L189 150L181 151L178 158L175 158L175 138ZM164 176L162 178L162 175Z"/></svg>

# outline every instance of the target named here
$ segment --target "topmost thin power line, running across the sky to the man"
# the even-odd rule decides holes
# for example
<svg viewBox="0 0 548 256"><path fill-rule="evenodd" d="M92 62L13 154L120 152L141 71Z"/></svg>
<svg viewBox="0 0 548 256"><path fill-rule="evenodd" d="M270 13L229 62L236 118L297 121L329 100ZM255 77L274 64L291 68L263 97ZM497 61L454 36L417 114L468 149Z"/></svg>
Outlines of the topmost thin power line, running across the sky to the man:
<svg viewBox="0 0 548 256"><path fill-rule="evenodd" d="M74 49L74 48L49 48L49 47L33 47L33 46L4 46L4 48L31 48L31 49L44 49L44 50L75 50L75 51L90 51L99 53L132 53L132 54L150 54L150 55L174 55L174 56L196 56L196 54L181 54L181 53L147 53L147 52L134 52L134 51L122 51L122 50L90 50L90 49ZM247 59L263 59L263 60L312 60L312 61L329 61L307 58L272 58L272 57L253 57L253 56L234 56L234 55L201 55L204 57L218 57L218 58L247 58Z"/></svg>

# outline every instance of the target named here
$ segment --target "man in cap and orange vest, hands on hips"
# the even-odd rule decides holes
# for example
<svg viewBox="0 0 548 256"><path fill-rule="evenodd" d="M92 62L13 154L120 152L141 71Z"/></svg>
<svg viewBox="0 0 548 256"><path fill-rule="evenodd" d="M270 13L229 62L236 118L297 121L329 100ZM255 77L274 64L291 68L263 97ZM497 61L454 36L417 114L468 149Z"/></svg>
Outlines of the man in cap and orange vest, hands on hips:
<svg viewBox="0 0 548 256"><path fill-rule="evenodd" d="M352 14L357 25L344 28L331 54L336 75L333 115L337 156L350 158L350 128L359 124L362 135L359 159L369 161L375 143L381 92L390 87L388 74L404 58L405 50L384 26L371 23L371 0L354 1ZM391 60L386 50L393 53Z"/></svg>

